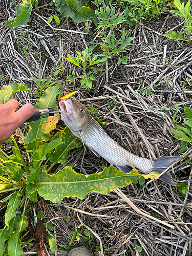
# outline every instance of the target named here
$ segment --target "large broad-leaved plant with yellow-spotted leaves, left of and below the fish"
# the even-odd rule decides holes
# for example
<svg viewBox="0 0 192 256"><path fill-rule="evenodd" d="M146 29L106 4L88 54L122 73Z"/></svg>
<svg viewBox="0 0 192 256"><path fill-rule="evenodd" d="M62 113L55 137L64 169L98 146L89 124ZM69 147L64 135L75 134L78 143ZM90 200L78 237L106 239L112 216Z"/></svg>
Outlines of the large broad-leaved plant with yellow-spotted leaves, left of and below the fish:
<svg viewBox="0 0 192 256"><path fill-rule="evenodd" d="M25 84L14 82L2 87L0 101L6 103L18 91L30 92ZM47 88L35 106L56 109L58 94L58 84ZM157 173L140 175L136 170L125 174L112 165L97 174L75 173L71 166L65 166L68 160L67 154L73 148L80 147L82 143L74 137L68 127L51 134L58 119L59 116L56 114L54 117L30 122L30 130L24 139L22 152L13 135L11 136L14 144L12 154L8 156L2 150L2 146L0 147L0 193L2 195L9 193L1 203L4 207L5 202L8 201L4 227L0 230L0 256L3 256L4 252L9 256L22 255L23 249L20 246L25 243L22 239L22 232L28 227L26 209L30 201L38 201L39 196L53 203L60 203L63 197L73 196L82 199L94 190L109 194L115 187L123 187L138 181L143 184L145 179L155 178L158 175ZM24 161L24 157L28 159L28 153L30 154L28 157L31 157L28 161ZM57 163L62 164L63 167L56 174L50 175L49 172ZM44 212L40 211L37 217L41 218L43 215ZM51 225L47 227L52 230ZM85 239L89 238L88 232L86 230L83 232L87 233ZM55 242L52 237L49 237L49 243L54 252Z"/></svg>

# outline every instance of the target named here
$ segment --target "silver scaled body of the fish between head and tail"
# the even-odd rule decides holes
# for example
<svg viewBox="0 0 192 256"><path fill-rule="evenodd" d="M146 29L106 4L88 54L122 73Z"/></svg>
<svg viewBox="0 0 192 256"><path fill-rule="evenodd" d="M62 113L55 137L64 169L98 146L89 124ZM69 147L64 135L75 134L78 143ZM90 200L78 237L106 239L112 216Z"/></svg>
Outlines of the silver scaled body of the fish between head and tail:
<svg viewBox="0 0 192 256"><path fill-rule="evenodd" d="M81 138L87 146L96 151L98 155L103 157L111 164L118 166L127 165L128 163L125 158L129 158L134 164L139 166L145 172L151 172L153 163L150 159L138 157L126 151L108 134L106 134L101 125L89 112L87 112L86 125L81 130Z"/></svg>

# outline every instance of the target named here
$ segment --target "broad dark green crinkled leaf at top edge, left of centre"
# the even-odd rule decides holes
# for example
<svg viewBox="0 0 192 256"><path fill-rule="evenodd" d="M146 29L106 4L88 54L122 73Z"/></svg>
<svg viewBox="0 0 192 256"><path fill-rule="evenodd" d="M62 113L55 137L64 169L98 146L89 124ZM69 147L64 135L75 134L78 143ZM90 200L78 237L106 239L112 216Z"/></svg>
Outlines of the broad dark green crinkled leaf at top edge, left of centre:
<svg viewBox="0 0 192 256"><path fill-rule="evenodd" d="M86 22L91 19L95 24L98 19L86 1L55 0L55 6L63 17L71 17L74 22Z"/></svg>

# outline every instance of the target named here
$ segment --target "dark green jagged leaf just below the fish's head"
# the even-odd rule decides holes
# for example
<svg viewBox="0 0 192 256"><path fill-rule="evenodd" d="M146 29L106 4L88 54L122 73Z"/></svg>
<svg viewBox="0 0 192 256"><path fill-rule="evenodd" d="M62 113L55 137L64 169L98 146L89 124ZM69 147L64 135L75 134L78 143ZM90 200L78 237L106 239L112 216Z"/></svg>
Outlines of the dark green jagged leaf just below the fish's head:
<svg viewBox="0 0 192 256"><path fill-rule="evenodd" d="M63 144L55 147L55 151L51 152L49 159L52 163L57 162L64 164L68 160L68 152L75 147L81 147L82 143L71 133L68 127L65 127L63 131L56 133L53 139L58 137L62 139Z"/></svg>

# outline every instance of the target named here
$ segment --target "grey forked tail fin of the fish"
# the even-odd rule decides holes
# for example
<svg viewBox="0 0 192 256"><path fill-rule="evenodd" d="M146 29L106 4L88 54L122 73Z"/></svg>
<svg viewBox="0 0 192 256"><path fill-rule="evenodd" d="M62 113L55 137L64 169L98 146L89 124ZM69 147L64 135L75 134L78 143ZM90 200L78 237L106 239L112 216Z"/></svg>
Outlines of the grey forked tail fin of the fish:
<svg viewBox="0 0 192 256"><path fill-rule="evenodd" d="M158 157L153 163L151 172L162 173L167 167L180 160L181 157ZM169 185L176 186L176 183L172 180L172 176L166 172L159 177L160 180L168 183Z"/></svg>

